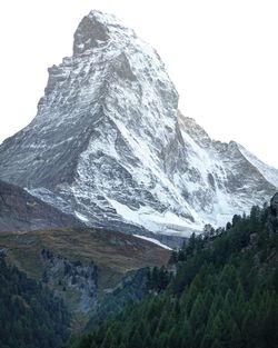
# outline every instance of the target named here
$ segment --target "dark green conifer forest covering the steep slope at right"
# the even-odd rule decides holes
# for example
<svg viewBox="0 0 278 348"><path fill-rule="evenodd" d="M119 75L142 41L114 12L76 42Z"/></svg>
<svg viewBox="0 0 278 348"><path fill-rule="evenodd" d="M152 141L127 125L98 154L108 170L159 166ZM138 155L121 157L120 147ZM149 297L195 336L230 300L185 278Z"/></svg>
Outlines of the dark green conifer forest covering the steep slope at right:
<svg viewBox="0 0 278 348"><path fill-rule="evenodd" d="M277 348L278 236L269 209L206 227L148 276L149 294L78 348Z"/></svg>

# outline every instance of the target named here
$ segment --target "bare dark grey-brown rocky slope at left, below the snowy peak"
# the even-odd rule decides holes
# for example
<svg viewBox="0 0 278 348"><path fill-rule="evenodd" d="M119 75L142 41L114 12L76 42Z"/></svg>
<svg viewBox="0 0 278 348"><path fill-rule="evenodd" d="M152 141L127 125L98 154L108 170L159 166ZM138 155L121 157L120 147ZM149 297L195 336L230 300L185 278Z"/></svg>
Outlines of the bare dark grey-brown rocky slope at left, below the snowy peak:
<svg viewBox="0 0 278 348"><path fill-rule="evenodd" d="M23 189L0 181L0 232L73 226L82 227L82 223Z"/></svg>

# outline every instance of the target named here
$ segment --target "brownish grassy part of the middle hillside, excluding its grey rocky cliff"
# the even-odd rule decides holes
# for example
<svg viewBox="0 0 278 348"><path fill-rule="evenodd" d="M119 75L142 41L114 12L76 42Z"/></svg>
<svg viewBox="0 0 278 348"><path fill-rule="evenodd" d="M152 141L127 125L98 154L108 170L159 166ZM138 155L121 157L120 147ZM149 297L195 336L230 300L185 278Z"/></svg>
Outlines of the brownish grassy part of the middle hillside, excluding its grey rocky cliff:
<svg viewBox="0 0 278 348"><path fill-rule="evenodd" d="M0 235L0 249L6 248L8 260L36 280L41 280L46 264L41 250L48 249L70 261L89 265L93 261L99 270L99 298L106 290L116 287L122 277L146 266L167 264L170 252L149 241L120 233L97 229L54 229L31 232ZM60 290L56 289L54 290ZM71 291L62 295L71 311L78 295ZM87 317L76 317L75 327L82 326Z"/></svg>

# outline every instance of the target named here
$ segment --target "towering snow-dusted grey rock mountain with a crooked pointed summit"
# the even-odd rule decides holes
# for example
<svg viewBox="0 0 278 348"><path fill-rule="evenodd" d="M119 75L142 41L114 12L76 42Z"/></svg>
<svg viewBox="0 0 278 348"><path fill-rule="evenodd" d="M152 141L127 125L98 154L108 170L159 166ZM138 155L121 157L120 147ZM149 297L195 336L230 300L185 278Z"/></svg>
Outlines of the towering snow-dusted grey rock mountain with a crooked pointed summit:
<svg viewBox="0 0 278 348"><path fill-rule="evenodd" d="M189 236L272 196L278 170L178 110L158 53L113 16L80 22L0 178L88 226Z"/></svg>

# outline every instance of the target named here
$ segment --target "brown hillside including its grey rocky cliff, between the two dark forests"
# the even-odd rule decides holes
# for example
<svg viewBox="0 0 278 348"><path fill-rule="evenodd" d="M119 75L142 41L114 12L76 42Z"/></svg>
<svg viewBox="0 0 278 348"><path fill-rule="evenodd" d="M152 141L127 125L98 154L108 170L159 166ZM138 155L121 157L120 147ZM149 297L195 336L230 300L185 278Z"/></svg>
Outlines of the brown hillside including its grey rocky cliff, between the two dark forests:
<svg viewBox="0 0 278 348"><path fill-rule="evenodd" d="M170 257L169 250L147 240L98 229L1 233L0 249L9 264L64 300L75 330L125 277L147 266L162 266Z"/></svg>

